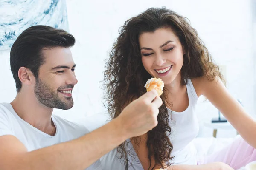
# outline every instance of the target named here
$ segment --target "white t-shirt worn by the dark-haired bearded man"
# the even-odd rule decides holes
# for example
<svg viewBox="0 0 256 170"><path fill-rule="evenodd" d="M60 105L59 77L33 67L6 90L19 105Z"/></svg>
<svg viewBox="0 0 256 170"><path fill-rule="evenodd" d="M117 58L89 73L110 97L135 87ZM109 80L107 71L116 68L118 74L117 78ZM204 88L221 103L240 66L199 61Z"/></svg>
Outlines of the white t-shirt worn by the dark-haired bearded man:
<svg viewBox="0 0 256 170"><path fill-rule="evenodd" d="M0 103L0 136L15 136L28 151L67 142L89 133L86 127L56 115L52 115L52 121L56 127L54 136L50 136L25 122L17 115L10 103ZM102 170L100 161L96 161L86 170Z"/></svg>

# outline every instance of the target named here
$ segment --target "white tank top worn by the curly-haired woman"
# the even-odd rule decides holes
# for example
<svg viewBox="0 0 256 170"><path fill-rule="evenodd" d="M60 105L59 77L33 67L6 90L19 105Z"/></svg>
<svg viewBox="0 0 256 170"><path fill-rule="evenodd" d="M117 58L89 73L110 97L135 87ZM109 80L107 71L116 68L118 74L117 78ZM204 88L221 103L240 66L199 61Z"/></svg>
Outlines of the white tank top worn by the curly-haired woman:
<svg viewBox="0 0 256 170"><path fill-rule="evenodd" d="M190 79L186 84L186 88L189 96L188 108L183 112L175 112L167 108L171 115L169 119L169 125L172 129L169 138L173 144L171 156L175 156L172 164L197 164L196 148L192 141L198 135L199 131L199 123L195 113L198 96ZM140 160L129 139L128 142L128 150L130 150L131 153L131 155L128 156L128 169L143 170Z"/></svg>

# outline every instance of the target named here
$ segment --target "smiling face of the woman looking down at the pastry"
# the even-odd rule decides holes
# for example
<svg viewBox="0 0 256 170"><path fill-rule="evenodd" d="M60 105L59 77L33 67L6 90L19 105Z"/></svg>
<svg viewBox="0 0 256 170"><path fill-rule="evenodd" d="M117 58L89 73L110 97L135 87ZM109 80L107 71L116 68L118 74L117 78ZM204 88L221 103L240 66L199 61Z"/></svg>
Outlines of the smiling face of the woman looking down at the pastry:
<svg viewBox="0 0 256 170"><path fill-rule="evenodd" d="M184 50L171 28L145 32L140 35L139 43L143 66L152 77L168 85L180 76Z"/></svg>

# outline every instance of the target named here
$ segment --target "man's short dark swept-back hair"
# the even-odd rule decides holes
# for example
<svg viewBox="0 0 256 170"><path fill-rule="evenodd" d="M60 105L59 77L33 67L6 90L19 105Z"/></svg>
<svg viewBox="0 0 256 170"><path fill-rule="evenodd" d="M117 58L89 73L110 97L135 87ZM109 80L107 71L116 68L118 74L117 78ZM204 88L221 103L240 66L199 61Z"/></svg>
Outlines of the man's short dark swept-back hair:
<svg viewBox="0 0 256 170"><path fill-rule="evenodd" d="M13 78L16 83L16 91L21 89L18 77L20 67L26 67L36 78L44 56L42 49L54 47L72 47L75 38L67 31L50 26L32 26L23 31L12 45L10 52L10 65Z"/></svg>

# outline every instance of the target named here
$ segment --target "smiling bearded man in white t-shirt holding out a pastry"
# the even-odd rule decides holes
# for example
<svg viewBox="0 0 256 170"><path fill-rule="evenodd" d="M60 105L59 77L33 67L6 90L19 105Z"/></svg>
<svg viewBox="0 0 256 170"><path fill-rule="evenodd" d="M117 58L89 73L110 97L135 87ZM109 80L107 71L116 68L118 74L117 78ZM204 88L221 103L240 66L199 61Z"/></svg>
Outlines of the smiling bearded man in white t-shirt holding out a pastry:
<svg viewBox="0 0 256 170"><path fill-rule="evenodd" d="M156 91L91 133L52 115L53 108L73 107L74 43L71 34L49 26L32 26L14 42L10 64L17 96L0 104L1 170L101 170L100 157L157 125L162 100Z"/></svg>

